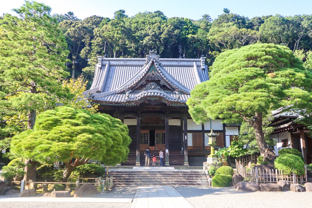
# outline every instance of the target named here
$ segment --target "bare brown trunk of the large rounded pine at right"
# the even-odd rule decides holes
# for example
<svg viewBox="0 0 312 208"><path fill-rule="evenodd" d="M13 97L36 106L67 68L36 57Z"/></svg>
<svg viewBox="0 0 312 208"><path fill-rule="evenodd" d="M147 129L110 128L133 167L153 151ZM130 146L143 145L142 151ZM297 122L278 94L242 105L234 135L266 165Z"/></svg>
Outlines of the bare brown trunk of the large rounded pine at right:
<svg viewBox="0 0 312 208"><path fill-rule="evenodd" d="M263 156L264 151L268 146L266 145L266 140L264 138L264 133L262 129L262 113L256 113L253 128L255 129L255 135L260 150L260 154Z"/></svg>

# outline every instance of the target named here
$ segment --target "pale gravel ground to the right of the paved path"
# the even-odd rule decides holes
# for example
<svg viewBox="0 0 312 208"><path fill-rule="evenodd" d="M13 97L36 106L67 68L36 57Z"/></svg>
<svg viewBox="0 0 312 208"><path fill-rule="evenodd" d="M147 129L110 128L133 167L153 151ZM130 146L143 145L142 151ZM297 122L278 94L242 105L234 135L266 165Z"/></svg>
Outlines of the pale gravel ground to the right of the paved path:
<svg viewBox="0 0 312 208"><path fill-rule="evenodd" d="M283 207L311 208L312 192L240 192L233 187L189 187L175 186L177 190L195 208L207 207Z"/></svg>

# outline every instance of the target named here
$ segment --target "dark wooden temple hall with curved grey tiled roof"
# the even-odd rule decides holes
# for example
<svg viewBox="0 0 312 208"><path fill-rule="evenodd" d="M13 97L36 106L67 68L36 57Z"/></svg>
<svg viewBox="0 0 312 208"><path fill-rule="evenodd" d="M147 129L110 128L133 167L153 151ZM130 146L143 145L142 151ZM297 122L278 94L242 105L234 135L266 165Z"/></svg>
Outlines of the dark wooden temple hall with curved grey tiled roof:
<svg viewBox="0 0 312 208"><path fill-rule="evenodd" d="M158 156L163 149L165 165L202 165L210 154L206 133L210 122L196 124L185 104L195 85L208 80L204 58L160 58L149 51L146 58L98 57L90 90L92 102L101 113L122 120L132 139L128 161L141 165L149 148ZM229 146L238 126L212 120L216 147ZM143 157L142 157L143 155Z"/></svg>

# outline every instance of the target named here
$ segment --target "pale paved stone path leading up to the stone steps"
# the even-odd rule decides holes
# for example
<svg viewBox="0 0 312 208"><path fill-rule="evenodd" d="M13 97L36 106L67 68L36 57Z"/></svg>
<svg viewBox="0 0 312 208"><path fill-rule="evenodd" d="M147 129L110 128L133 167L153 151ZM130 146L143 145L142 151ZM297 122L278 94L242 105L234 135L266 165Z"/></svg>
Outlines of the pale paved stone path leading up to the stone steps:
<svg viewBox="0 0 312 208"><path fill-rule="evenodd" d="M194 208L171 186L139 186L131 208Z"/></svg>

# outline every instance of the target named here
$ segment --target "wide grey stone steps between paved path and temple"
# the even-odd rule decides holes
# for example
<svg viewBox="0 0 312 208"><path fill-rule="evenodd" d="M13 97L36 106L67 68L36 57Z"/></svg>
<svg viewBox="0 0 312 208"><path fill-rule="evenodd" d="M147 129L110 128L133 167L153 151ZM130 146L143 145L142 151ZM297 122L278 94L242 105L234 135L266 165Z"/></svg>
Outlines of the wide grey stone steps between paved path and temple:
<svg viewBox="0 0 312 208"><path fill-rule="evenodd" d="M202 170L176 170L173 167L144 167L133 170L109 170L115 186L208 186ZM155 170L153 170L155 168Z"/></svg>

